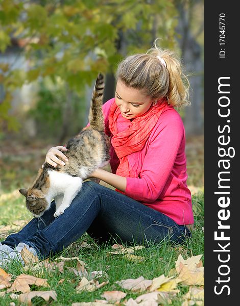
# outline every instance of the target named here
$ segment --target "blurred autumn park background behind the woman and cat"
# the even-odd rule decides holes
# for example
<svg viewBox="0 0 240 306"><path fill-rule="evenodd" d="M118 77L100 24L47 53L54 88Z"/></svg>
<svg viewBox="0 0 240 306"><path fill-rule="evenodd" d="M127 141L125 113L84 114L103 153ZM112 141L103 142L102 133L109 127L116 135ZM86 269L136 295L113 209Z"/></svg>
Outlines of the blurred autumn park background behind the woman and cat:
<svg viewBox="0 0 240 306"><path fill-rule="evenodd" d="M98 72L106 101L118 62L156 38L190 81L191 106L179 112L195 192L204 186L202 0L0 0L0 206L33 182L50 147L86 125Z"/></svg>

